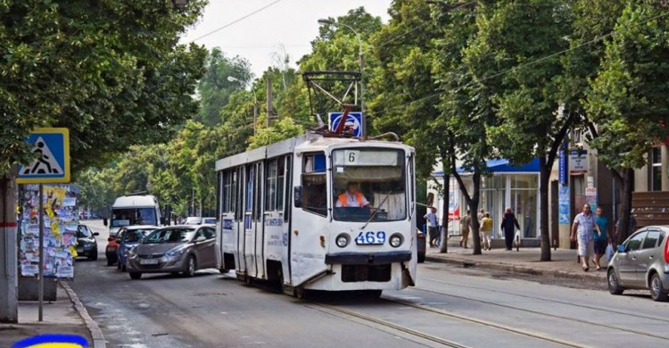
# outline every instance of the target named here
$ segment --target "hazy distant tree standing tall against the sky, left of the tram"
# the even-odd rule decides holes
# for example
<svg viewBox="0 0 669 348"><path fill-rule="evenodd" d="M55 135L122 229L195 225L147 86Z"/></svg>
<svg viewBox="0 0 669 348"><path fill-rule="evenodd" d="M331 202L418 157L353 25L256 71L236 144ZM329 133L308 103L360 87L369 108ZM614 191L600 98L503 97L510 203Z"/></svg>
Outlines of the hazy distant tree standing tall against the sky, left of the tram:
<svg viewBox="0 0 669 348"><path fill-rule="evenodd" d="M238 56L228 58L220 48L213 48L207 56L206 72L197 85L200 111L194 120L209 127L219 124L220 109L233 92L244 89L251 75L251 64L247 60ZM234 79L228 80L230 77Z"/></svg>

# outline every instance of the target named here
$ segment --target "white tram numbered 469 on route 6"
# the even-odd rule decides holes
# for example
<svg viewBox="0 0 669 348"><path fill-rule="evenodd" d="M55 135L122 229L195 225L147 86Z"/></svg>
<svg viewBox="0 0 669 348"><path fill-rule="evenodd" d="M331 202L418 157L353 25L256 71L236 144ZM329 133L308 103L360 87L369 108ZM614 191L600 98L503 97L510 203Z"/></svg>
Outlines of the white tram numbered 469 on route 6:
<svg viewBox="0 0 669 348"><path fill-rule="evenodd" d="M298 297L414 286L414 158L401 143L310 133L219 160L219 269Z"/></svg>

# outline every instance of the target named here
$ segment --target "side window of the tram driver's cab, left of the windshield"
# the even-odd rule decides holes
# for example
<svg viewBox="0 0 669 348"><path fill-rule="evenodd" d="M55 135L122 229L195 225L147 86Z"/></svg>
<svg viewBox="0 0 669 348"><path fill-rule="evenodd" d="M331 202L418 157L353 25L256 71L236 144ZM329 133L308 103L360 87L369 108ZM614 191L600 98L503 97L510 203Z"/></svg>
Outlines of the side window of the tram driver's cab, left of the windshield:
<svg viewBox="0 0 669 348"><path fill-rule="evenodd" d="M302 209L327 216L325 153L305 154L302 160Z"/></svg>

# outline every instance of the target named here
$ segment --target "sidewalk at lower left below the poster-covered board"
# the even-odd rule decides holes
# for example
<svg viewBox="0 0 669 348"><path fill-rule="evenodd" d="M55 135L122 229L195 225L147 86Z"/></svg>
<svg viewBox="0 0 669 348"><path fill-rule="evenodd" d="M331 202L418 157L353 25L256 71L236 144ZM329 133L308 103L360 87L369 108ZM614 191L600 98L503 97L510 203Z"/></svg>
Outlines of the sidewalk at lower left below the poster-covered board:
<svg viewBox="0 0 669 348"><path fill-rule="evenodd" d="M44 302L42 322L37 321L37 302L19 302L19 323L0 323L0 347L11 347L21 339L45 334L77 335L86 338L90 347L94 347L94 342L95 347L101 346L99 340L93 339L92 333L95 335L95 330L89 327L91 323L85 319L87 317L90 320L86 310L81 312L76 308L75 304L78 302L80 305L81 302L73 292L71 294L74 298L70 299L68 293L66 288L59 284L56 301Z"/></svg>

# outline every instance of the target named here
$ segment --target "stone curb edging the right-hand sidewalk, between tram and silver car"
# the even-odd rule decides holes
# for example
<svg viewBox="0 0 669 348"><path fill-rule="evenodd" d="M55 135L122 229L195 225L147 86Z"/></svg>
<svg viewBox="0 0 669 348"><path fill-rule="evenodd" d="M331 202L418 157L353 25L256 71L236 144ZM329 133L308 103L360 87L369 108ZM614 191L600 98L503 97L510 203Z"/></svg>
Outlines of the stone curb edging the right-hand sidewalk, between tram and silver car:
<svg viewBox="0 0 669 348"><path fill-rule="evenodd" d="M432 261L437 263L448 263L452 265L464 266L464 267L477 267L480 269L493 269L501 270L515 274L523 274L529 276L544 276L544 277L554 277L554 278L568 278L568 279L579 279L579 280L588 280L588 281L606 281L606 278L595 276L593 274L579 274L561 269L533 269L527 266L518 266L509 263L498 263L490 261L472 261L472 260L463 260L463 259L450 259L445 257L429 256L425 255L425 261Z"/></svg>

